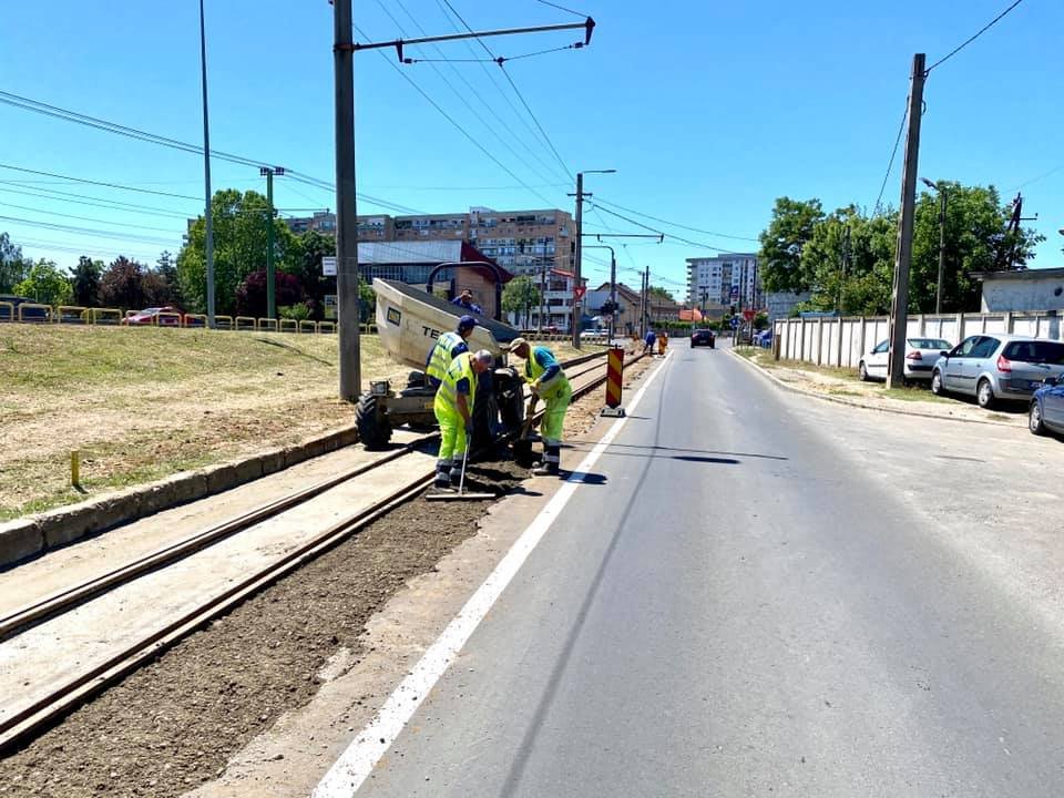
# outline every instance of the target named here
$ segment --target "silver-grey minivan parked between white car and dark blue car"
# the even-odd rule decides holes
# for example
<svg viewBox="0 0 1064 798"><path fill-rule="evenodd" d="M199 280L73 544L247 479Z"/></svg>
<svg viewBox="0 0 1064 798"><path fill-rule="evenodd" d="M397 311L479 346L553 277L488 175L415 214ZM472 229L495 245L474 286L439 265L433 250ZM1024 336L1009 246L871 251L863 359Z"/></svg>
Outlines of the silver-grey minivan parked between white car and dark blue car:
<svg viewBox="0 0 1064 798"><path fill-rule="evenodd" d="M982 408L999 399L1027 401L1046 378L1064 377L1064 344L1007 335L969 336L939 358L931 390L974 396Z"/></svg>

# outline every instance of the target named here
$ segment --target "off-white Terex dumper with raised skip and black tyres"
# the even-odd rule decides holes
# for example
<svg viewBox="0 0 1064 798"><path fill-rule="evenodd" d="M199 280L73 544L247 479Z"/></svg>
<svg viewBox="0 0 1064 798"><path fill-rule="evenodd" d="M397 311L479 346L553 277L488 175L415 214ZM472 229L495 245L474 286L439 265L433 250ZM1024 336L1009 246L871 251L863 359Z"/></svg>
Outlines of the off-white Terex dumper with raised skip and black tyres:
<svg viewBox="0 0 1064 798"><path fill-rule="evenodd" d="M396 427L432 429L436 388L424 375L426 360L443 332L454 330L469 315L477 327L468 339L470 351L487 349L494 358L492 369L478 380L473 406L472 449L481 459L497 459L503 447L516 439L524 426L524 395L521 374L507 365L505 352L519 332L510 325L453 305L429 291L399 280L377 277L377 331L389 357L412 369L403 387L388 380L370 382L356 410L358 434L367 449L382 449ZM499 303L497 301L497 307Z"/></svg>

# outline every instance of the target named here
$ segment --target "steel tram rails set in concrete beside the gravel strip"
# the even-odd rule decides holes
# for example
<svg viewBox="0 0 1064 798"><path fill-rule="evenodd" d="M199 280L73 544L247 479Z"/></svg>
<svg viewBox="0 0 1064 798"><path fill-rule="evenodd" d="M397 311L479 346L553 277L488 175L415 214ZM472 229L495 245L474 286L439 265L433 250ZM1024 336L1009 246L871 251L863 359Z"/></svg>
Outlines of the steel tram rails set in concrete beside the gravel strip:
<svg viewBox="0 0 1064 798"><path fill-rule="evenodd" d="M595 357L597 356L601 356L601 355L596 355ZM627 360L625 362L625 366L630 366L641 360L643 357L644 357L643 355L636 355L632 357L630 360ZM585 362L590 359L591 358L582 358L581 362ZM587 369L580 372L579 375L572 375L571 377L577 378L581 376L585 376L592 369ZM587 380L586 382L580 386L574 386L573 399L579 399L583 396L586 396L592 390L594 390L595 388L601 386L603 382L605 382L605 380L606 380L605 375L602 375L600 377L594 377L591 380ZM543 411L541 410L535 413L535 417L540 418L542 417L542 413ZM432 437L431 434L426 436L426 439L431 437ZM386 456L386 458L381 458L375 461L374 463L366 463L365 466L361 466L358 469L354 469L352 471L359 471L360 473L365 473L365 471L376 468L380 464L383 464L383 462L398 459L403 454L407 454L410 451L412 451L413 444L415 442L411 442L407 444L407 447L405 447L402 450L392 452L389 456ZM297 549L282 555L280 557L275 560L273 563L266 565L263 569L259 569L255 573L249 574L246 579L242 580L241 582L233 585L232 587L221 593L219 595L216 595L209 598L208 601L191 610L184 615L177 617L176 620L170 621L170 623L167 623L164 627L158 628L147 634L146 636L140 638L135 643L125 646L124 648L115 653L113 656L111 656L103 663L100 663L89 668L88 671L79 674L78 676L74 676L73 678L68 681L65 684L60 685L59 687L55 687L45 696L33 702L33 704L24 707L23 709L19 710L11 717L0 720L0 751L7 751L13 747L17 747L25 743L39 729L54 725L62 717L69 714L71 710L73 710L74 708L76 708L88 699L92 698L93 696L98 695L99 693L103 692L109 686L116 683L124 676L129 675L130 673L139 668L144 663L150 662L153 658L157 657L165 649L177 644L184 637L188 636L196 630L203 628L211 621L232 611L233 608L242 604L244 601L246 601L250 596L268 587L269 585L276 583L284 576L288 575L289 573L298 570L304 564L316 559L317 556L325 553L329 549L338 545L346 539L357 533L362 528L382 518L383 515L395 510L396 508L400 507L401 504L405 504L406 502L411 501L412 499L416 499L418 495L421 494L422 491L424 491L431 484L432 479L434 478L434 473L436 473L434 469L428 470L424 474L421 474L408 481L406 484L401 485L396 491L389 493L387 497L383 497L371 507L366 508L365 510L347 519L344 519L342 521L337 522L336 524L331 525L330 528L319 533L311 540L307 541L303 545L298 546ZM317 493L315 493L315 495L317 495L318 493L321 493L325 490L328 490L328 488L324 488L323 485L332 483L332 485L335 487L335 484L338 484L339 482L342 482L346 479L351 479L351 475L352 475L351 473L348 473L342 477L338 477L334 480L328 480L327 482L323 482L318 485L314 485L313 488L309 488L306 491L300 491L299 493L293 494L291 497L287 497L286 499L279 500L278 502L274 502L273 504L254 510L250 513L247 513L246 515L242 515L239 519L234 519L233 522L228 522L228 523L236 523L242 519L247 519L254 515L260 515L262 513L266 513L269 509L274 509L277 505L286 502L288 503L288 507L294 507L296 503L298 503L298 497L308 494L313 491L317 491ZM303 501L306 501L306 499L303 499ZM276 514L277 512L279 511L274 509L274 514ZM266 518L268 518L268 515ZM226 524L222 524L219 528L215 528L214 531L217 531L218 529L224 526L226 526ZM233 532L231 531L229 534L233 534ZM196 539L190 539L190 540L200 540L200 536L197 535ZM188 541L186 541L185 543L187 542ZM175 546L180 546L180 545L182 545L182 543L175 544ZM200 549L203 549L205 545L208 545L208 543L200 544L196 550L198 551ZM166 550L163 550L163 552L171 551L175 546L171 546ZM173 562L174 555L170 555L170 556L172 557L171 562ZM90 581L90 583L96 584L98 585L94 589L89 587L88 585L90 583L85 583L84 585L79 586L79 589L84 591L90 591L94 595L96 593L103 592L104 590L113 589L117 584L121 584L121 582L117 581L121 579L121 576L119 576L117 574L120 572L124 572L127 567L131 567L131 566L141 567L139 573L143 574L147 570L153 570L153 567L160 566L157 564L155 566L143 564L144 560L146 560L146 557L143 557L142 560L127 564L127 566L123 566L122 569L117 569L111 572L111 574L114 575L114 579L112 579L112 581L108 585L99 584L99 582L105 577L98 577L96 580ZM137 565L139 563L141 563L142 565ZM134 579L134 577L135 576L127 576L125 581L130 581L131 579ZM79 589L72 589L72 590L79 590ZM71 594L73 593L71 592ZM76 600L71 598L69 603L70 604L80 603L81 601L84 601L84 600L85 600L85 594L82 594L81 598L76 598ZM51 598L48 601L51 601ZM43 604L43 602L34 606L40 606L41 604ZM51 614L53 615L57 614L55 607L52 607L51 611L41 610L41 612L45 612L45 613L51 612ZM9 616L9 617L13 617L13 616ZM41 617L41 615L39 614L37 617Z"/></svg>

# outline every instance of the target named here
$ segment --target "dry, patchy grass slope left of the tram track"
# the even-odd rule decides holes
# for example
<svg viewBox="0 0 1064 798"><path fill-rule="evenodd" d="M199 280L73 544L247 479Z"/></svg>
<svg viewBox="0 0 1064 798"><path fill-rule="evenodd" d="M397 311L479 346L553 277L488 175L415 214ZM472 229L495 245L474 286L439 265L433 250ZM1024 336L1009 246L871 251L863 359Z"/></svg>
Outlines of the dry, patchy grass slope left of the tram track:
<svg viewBox="0 0 1064 798"><path fill-rule="evenodd" d="M337 358L335 336L2 325L0 521L350 426ZM367 383L409 372L376 336L361 358Z"/></svg>

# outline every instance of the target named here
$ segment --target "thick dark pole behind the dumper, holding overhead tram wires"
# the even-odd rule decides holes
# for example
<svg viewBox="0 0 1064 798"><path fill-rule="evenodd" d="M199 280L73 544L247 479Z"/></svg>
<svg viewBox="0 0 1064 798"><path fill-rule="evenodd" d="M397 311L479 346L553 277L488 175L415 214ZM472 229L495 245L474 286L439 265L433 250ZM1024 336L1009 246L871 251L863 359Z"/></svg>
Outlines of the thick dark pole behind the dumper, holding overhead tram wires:
<svg viewBox="0 0 1064 798"><path fill-rule="evenodd" d="M334 0L336 45L336 303L340 339L340 399L358 401L358 209L355 203L355 51L351 0Z"/></svg>

